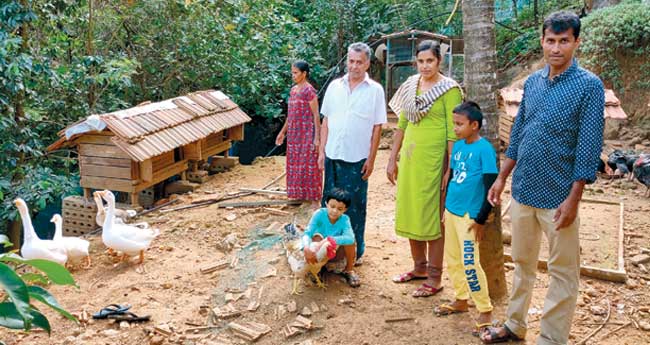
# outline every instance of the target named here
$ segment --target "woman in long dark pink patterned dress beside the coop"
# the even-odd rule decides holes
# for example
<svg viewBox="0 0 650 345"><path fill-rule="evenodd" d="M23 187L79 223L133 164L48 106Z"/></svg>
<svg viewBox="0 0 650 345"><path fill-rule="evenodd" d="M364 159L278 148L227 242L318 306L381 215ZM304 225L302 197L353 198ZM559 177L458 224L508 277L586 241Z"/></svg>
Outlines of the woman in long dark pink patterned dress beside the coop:
<svg viewBox="0 0 650 345"><path fill-rule="evenodd" d="M318 97L307 77L309 64L296 61L291 66L294 85L289 96L287 120L275 139L282 145L287 138L287 196L289 199L311 201L319 207L322 193L322 175L318 169L320 143L320 114Z"/></svg>

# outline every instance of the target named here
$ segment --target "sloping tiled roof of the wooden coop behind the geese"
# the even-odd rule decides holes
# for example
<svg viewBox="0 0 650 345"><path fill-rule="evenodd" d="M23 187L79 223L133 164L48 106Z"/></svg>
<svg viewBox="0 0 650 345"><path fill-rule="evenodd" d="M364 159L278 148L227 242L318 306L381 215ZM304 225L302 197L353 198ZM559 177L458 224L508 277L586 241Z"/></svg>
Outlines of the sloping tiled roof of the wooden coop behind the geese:
<svg viewBox="0 0 650 345"><path fill-rule="evenodd" d="M114 134L111 140L115 145L140 162L251 120L228 96L214 90L142 104L99 117ZM55 150L74 139L66 139L65 130L59 135L63 137L48 149Z"/></svg>

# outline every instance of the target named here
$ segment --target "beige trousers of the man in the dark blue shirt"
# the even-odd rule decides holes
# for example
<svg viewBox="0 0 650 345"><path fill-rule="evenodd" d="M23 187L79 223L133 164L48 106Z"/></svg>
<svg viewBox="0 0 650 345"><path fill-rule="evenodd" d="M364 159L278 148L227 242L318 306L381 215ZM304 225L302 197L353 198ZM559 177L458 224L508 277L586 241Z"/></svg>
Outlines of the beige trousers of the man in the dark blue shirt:
<svg viewBox="0 0 650 345"><path fill-rule="evenodd" d="M548 273L551 278L540 323L538 345L566 344L578 298L580 274L579 219L555 230L556 209L540 209L512 200L512 260L515 273L508 304L506 326L525 338L528 307L535 286L535 273L542 233L549 244Z"/></svg>

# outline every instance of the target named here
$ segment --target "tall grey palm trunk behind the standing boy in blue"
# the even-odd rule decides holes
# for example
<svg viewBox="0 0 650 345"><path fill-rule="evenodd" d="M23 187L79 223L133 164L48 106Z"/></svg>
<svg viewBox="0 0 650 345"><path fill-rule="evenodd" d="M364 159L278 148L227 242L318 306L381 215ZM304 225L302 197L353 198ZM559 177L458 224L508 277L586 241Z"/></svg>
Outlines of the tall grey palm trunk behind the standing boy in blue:
<svg viewBox="0 0 650 345"><path fill-rule="evenodd" d="M494 0L463 0L463 38L467 99L481 106L487 121L483 127L484 137L499 152ZM486 223L486 237L480 243L480 253L490 297L499 300L507 294L499 207Z"/></svg>

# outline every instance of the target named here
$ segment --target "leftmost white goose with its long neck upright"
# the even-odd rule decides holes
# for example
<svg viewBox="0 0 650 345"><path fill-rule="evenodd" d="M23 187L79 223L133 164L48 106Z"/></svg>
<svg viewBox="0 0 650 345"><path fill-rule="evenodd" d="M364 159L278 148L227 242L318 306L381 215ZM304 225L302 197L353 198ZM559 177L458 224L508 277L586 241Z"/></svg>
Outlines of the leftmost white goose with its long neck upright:
<svg viewBox="0 0 650 345"><path fill-rule="evenodd" d="M22 247L20 247L21 255L28 260L44 259L65 265L66 261L68 261L68 256L63 245L53 240L41 240L36 235L25 200L18 198L14 200L14 205L16 205L20 213L20 218L23 222L23 233L25 235L25 241Z"/></svg>

